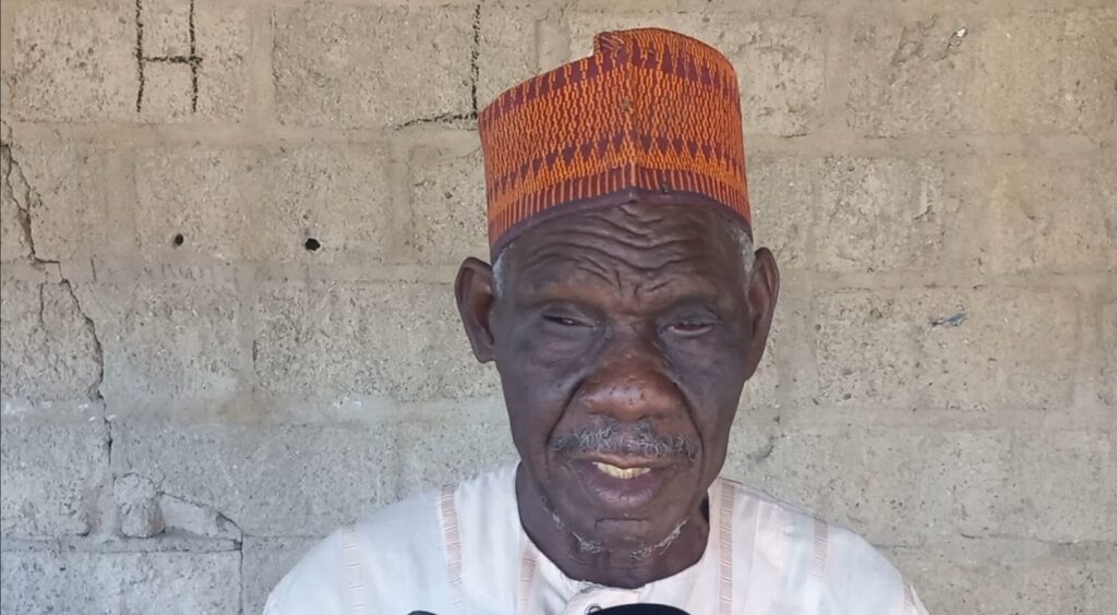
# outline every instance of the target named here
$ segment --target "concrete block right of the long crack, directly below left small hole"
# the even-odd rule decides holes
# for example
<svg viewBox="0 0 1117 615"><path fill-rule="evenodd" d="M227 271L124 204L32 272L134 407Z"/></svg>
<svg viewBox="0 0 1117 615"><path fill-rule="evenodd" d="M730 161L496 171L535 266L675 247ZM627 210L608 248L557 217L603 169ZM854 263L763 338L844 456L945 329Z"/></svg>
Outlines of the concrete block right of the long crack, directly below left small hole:
<svg viewBox="0 0 1117 615"><path fill-rule="evenodd" d="M226 400L247 363L231 281L199 279L77 287L104 348L101 392L117 412Z"/></svg>

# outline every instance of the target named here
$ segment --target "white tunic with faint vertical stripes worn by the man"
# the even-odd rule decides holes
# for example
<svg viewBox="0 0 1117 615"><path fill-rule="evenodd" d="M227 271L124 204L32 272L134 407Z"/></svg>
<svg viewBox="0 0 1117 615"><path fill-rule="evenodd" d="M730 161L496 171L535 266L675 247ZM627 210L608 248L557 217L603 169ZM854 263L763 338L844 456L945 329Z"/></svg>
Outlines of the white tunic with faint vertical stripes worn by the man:
<svg viewBox="0 0 1117 615"><path fill-rule="evenodd" d="M515 474L509 465L338 530L276 586L265 615L583 615L632 603L694 615L926 615L862 538L725 479L710 487L709 538L690 568L639 589L571 579L524 532Z"/></svg>

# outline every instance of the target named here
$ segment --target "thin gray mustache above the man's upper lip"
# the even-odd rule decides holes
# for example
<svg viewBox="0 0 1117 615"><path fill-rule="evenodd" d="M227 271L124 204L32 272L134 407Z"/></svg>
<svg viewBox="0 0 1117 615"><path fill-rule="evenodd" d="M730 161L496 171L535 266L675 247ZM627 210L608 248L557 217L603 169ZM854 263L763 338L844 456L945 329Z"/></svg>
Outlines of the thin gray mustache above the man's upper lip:
<svg viewBox="0 0 1117 615"><path fill-rule="evenodd" d="M698 443L681 435L662 435L646 422L588 427L551 440L554 453L603 453L647 458L698 457Z"/></svg>

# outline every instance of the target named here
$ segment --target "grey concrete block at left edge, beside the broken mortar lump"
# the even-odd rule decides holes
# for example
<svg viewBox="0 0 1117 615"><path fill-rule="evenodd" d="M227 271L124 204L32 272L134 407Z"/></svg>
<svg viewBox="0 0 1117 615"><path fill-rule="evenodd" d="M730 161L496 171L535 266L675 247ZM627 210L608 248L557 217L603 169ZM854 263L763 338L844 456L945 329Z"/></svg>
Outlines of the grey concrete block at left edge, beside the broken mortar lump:
<svg viewBox="0 0 1117 615"><path fill-rule="evenodd" d="M4 422L0 458L6 540L61 538L94 529L99 492L108 478L108 436L102 421ZM6 612L11 608L8 588L6 580Z"/></svg>

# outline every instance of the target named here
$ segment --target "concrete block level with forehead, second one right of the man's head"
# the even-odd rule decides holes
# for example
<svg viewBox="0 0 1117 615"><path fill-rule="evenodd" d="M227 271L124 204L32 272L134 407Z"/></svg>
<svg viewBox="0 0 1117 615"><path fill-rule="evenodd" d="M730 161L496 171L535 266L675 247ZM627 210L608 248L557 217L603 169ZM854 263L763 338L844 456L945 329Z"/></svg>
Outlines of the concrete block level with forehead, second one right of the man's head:
<svg viewBox="0 0 1117 615"><path fill-rule="evenodd" d="M960 202L939 161L839 156L820 162L817 269L920 271L951 253L947 233L956 228Z"/></svg>

